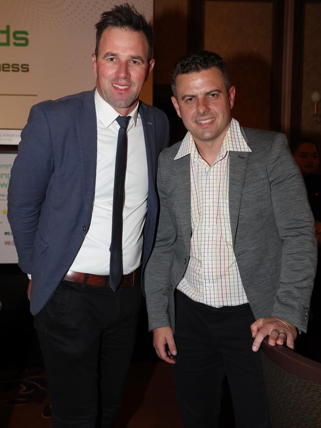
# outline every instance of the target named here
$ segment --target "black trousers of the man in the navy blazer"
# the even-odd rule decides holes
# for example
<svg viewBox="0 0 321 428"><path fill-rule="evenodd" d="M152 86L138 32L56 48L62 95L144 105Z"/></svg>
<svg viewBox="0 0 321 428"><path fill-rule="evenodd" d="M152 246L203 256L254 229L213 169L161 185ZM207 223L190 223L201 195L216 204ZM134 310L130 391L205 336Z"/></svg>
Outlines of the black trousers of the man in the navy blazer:
<svg viewBox="0 0 321 428"><path fill-rule="evenodd" d="M135 341L141 287L113 292L62 281L34 318L54 428L109 428Z"/></svg>

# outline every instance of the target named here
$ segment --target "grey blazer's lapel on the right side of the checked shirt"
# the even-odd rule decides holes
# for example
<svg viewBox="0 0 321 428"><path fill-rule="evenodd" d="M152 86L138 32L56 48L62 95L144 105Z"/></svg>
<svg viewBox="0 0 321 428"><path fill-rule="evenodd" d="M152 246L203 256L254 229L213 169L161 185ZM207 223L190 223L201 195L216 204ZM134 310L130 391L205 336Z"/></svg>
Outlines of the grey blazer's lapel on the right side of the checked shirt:
<svg viewBox="0 0 321 428"><path fill-rule="evenodd" d="M249 155L248 152L229 153L229 210L233 245L238 229L241 195Z"/></svg>

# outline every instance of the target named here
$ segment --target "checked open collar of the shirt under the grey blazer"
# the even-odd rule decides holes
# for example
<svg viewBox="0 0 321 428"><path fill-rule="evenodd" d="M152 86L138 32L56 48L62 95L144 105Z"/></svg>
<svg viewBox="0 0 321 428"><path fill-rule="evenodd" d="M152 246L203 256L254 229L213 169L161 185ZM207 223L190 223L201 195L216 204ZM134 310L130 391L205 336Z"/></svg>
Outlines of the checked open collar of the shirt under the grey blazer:
<svg viewBox="0 0 321 428"><path fill-rule="evenodd" d="M233 117L229 129L225 134L218 158L223 157L226 152L251 152L242 135L240 123ZM191 155L192 157L198 156L194 139L189 131L185 135L174 160L186 155Z"/></svg>

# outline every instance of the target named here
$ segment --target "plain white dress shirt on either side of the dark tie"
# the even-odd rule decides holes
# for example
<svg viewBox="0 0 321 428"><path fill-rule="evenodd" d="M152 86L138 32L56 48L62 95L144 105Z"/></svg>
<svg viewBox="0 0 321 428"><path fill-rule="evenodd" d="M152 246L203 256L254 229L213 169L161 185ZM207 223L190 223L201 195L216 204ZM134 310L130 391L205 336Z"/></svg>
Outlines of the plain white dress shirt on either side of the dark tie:
<svg viewBox="0 0 321 428"><path fill-rule="evenodd" d="M97 116L97 170L91 223L71 271L109 274L112 233L115 157L119 124L116 112L95 92ZM134 271L141 264L143 228L147 211L148 172L143 125L138 105L128 115L127 168L123 208L123 273Z"/></svg>

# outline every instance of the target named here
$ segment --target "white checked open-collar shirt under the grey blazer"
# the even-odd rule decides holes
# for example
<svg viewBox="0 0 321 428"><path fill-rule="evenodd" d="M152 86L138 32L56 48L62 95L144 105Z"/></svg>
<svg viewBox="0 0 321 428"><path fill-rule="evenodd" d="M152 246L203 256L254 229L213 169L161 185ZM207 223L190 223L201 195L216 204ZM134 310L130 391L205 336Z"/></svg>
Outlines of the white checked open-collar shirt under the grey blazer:
<svg viewBox="0 0 321 428"><path fill-rule="evenodd" d="M192 300L216 308L247 303L230 225L230 151L251 151L235 119L213 165L200 156L189 132L175 157L191 157L192 220L190 260L177 288Z"/></svg>

